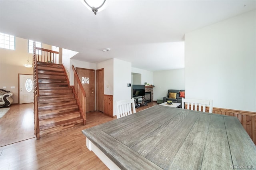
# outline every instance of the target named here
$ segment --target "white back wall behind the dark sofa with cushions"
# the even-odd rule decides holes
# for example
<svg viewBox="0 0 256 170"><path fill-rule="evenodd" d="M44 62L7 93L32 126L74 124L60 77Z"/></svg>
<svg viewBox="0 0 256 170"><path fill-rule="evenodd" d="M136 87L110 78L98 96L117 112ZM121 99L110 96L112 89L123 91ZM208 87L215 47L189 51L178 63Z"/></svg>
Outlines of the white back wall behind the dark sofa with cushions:
<svg viewBox="0 0 256 170"><path fill-rule="evenodd" d="M155 71L154 77L154 101L167 96L168 89L185 89L185 70L173 69L166 71ZM185 92L186 93L186 92Z"/></svg>

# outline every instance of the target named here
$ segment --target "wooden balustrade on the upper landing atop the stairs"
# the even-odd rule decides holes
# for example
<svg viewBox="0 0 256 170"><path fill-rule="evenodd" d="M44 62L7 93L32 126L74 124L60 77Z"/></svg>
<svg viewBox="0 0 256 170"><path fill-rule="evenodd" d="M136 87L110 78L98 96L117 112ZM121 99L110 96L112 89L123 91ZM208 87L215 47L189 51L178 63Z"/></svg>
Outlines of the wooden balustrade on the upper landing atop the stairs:
<svg viewBox="0 0 256 170"><path fill-rule="evenodd" d="M45 49L40 47L36 47L36 50L38 50L38 56L36 57L37 61L46 62L46 63L55 63L55 64L57 63L57 54L59 54L58 51L53 51L50 49ZM39 51L41 51L41 54L39 54L40 53Z"/></svg>

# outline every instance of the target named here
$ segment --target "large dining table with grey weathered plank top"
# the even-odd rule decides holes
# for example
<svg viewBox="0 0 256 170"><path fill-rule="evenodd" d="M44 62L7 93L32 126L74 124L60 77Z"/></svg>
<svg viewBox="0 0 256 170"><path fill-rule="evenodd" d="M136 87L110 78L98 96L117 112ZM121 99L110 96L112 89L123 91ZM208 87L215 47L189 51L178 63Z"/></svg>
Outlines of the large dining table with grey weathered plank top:
<svg viewBox="0 0 256 170"><path fill-rule="evenodd" d="M256 168L256 146L236 117L156 105L82 133L110 169Z"/></svg>

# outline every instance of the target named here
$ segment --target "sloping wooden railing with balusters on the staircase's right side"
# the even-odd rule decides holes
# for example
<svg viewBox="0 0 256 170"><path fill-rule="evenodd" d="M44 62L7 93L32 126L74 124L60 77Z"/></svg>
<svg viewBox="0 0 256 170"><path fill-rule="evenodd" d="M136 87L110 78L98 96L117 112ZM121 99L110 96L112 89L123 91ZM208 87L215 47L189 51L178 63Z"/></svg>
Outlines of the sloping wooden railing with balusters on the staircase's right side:
<svg viewBox="0 0 256 170"><path fill-rule="evenodd" d="M80 82L80 79L76 73L76 69L74 67L74 65L72 65L72 69L74 71L74 87L73 90L75 92L77 101L78 101L78 105L81 111L81 115L84 119L84 125L86 125L86 94L84 91L84 87L82 86L82 83Z"/></svg>

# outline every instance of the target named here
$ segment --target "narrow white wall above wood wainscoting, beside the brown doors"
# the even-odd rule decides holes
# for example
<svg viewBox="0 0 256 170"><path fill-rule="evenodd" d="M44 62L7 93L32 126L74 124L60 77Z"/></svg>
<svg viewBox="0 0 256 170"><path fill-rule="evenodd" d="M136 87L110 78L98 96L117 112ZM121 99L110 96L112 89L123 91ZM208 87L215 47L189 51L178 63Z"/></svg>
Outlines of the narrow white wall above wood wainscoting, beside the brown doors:
<svg viewBox="0 0 256 170"><path fill-rule="evenodd" d="M114 59L102 61L96 69L104 68L104 94L114 95Z"/></svg>

